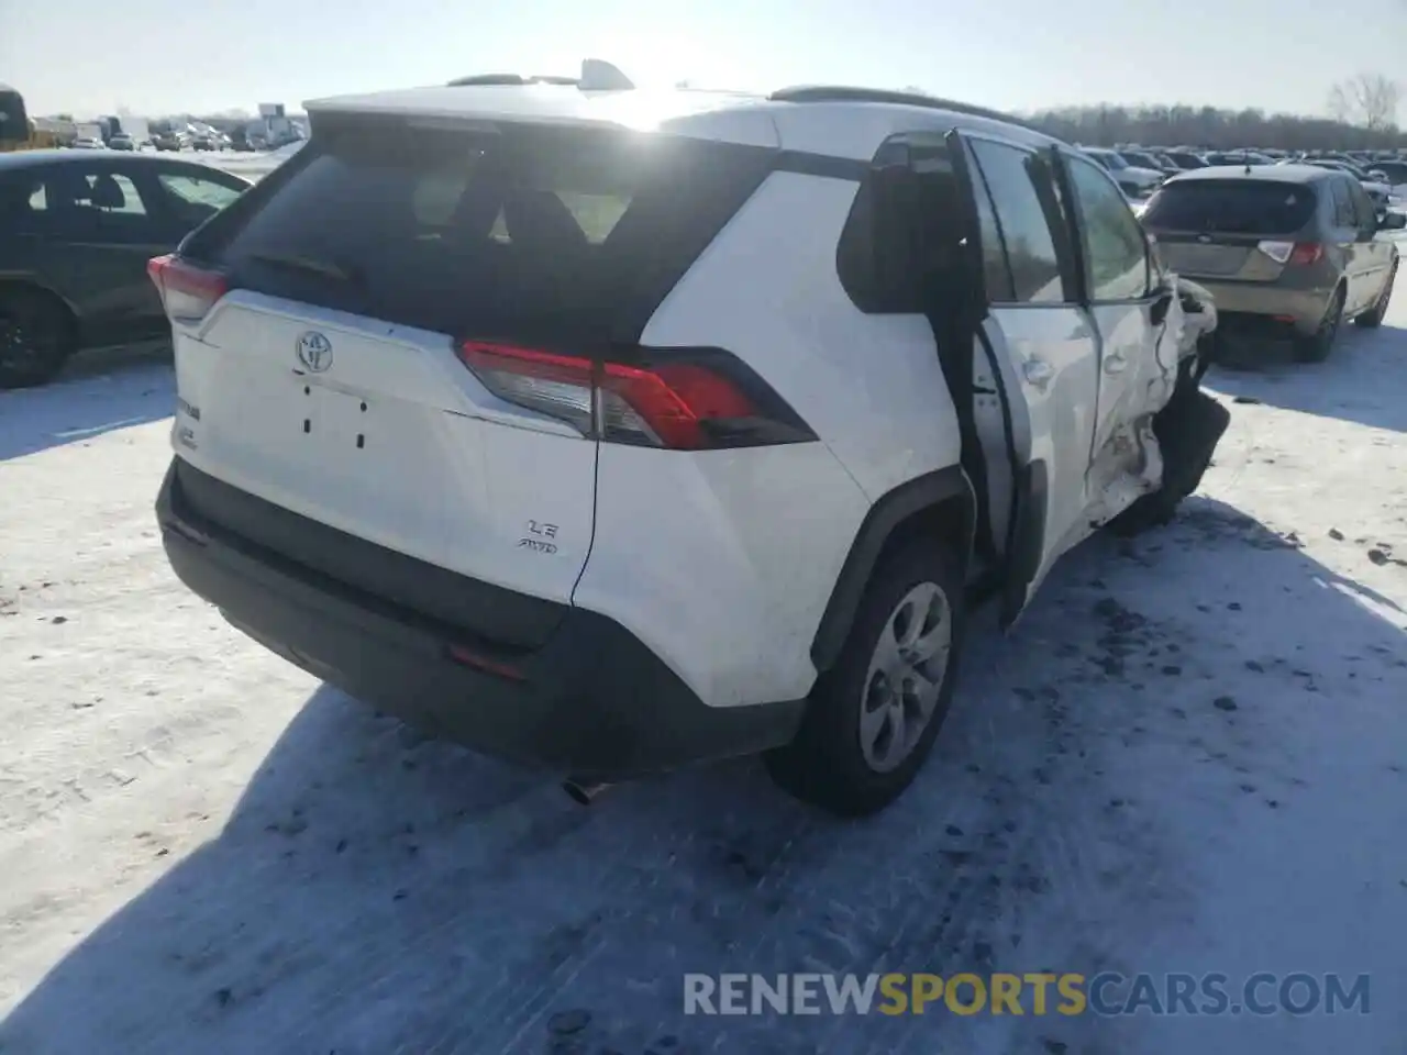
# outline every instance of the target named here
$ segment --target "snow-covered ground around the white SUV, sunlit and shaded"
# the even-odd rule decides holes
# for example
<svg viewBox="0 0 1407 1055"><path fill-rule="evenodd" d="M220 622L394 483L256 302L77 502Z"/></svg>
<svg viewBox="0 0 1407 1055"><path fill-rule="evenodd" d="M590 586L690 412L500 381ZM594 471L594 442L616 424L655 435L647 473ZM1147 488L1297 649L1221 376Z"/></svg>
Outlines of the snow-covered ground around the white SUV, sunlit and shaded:
<svg viewBox="0 0 1407 1055"><path fill-rule="evenodd" d="M981 619L927 769L853 824L754 762L584 810L422 741L167 571L163 363L0 395L0 1051L1401 1055L1407 297L1389 324L1214 374L1204 491ZM684 972L1040 969L1372 1003L682 1016Z"/></svg>

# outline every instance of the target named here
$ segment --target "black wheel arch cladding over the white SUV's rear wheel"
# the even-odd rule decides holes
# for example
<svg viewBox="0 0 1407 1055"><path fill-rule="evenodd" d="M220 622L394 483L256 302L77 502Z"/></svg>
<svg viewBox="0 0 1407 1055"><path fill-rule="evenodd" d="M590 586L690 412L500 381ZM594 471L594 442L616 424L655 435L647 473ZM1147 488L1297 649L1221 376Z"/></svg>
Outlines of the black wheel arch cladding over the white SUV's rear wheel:
<svg viewBox="0 0 1407 1055"><path fill-rule="evenodd" d="M948 466L900 484L875 502L850 544L850 553L812 639L810 658L816 670L830 670L840 656L860 608L860 598L885 554L915 539L927 537L954 546L965 574L975 525L976 497L960 466Z"/></svg>

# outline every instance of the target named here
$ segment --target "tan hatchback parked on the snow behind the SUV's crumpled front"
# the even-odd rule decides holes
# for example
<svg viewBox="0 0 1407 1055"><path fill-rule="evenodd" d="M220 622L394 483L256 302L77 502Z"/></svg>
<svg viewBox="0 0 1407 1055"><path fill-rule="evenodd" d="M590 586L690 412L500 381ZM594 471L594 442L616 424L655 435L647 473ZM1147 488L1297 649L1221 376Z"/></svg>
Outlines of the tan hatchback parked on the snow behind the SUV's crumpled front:
<svg viewBox="0 0 1407 1055"><path fill-rule="evenodd" d="M1164 262L1216 298L1221 339L1283 336L1325 359L1339 325L1383 321L1407 217L1379 217L1349 173L1314 165L1207 167L1173 176L1141 217Z"/></svg>

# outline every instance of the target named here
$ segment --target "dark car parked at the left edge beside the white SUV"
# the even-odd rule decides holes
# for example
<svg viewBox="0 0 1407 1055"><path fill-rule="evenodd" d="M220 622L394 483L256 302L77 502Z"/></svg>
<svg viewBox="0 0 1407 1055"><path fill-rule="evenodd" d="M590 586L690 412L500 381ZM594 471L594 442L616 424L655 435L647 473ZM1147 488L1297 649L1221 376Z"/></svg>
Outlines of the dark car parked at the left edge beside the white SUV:
<svg viewBox="0 0 1407 1055"><path fill-rule="evenodd" d="M146 262L248 186L151 153L0 155L0 388L49 380L80 347L162 336Z"/></svg>

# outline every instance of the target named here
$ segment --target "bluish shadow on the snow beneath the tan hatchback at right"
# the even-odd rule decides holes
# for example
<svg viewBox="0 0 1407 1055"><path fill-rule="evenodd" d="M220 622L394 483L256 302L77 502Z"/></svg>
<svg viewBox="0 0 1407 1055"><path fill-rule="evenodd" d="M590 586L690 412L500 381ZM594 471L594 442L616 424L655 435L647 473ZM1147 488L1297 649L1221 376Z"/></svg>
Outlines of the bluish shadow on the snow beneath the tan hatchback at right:
<svg viewBox="0 0 1407 1055"><path fill-rule="evenodd" d="M1292 362L1280 346L1233 346L1207 387L1237 402L1407 432L1407 329L1345 326L1324 363Z"/></svg>

